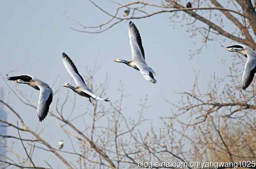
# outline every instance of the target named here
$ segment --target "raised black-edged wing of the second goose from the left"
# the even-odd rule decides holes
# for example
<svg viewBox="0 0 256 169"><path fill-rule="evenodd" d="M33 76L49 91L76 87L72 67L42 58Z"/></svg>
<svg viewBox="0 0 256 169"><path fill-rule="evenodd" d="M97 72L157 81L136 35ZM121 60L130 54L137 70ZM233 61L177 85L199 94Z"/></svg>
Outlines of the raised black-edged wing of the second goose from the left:
<svg viewBox="0 0 256 169"><path fill-rule="evenodd" d="M76 86L86 86L85 81L83 80L83 77L78 73L78 70L76 69L75 64L72 62L69 56L66 55L64 52L62 53L62 61L65 68L67 69L69 74L72 76L73 80L75 81Z"/></svg>

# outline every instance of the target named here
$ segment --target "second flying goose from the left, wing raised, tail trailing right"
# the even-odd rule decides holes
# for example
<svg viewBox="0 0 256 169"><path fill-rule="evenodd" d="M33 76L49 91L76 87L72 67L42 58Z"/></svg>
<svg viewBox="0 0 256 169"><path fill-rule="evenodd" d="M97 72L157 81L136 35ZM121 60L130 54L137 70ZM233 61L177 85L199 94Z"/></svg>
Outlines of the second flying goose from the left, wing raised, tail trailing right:
<svg viewBox="0 0 256 169"><path fill-rule="evenodd" d="M83 97L89 98L89 101L91 103L92 103L91 98L93 100L97 99L97 100L110 101L110 100L108 100L108 98L102 99L101 97L96 96L92 92L92 90L86 86L85 81L83 80L83 77L78 73L78 70L76 69L75 64L72 62L72 60L69 58L69 56L66 55L65 53L62 53L62 61L63 61L65 68L67 69L68 73L70 74L70 76L73 78L73 80L76 83L76 87L71 86L69 83L63 84L63 87L68 87L68 88L72 89L75 93L77 93Z"/></svg>

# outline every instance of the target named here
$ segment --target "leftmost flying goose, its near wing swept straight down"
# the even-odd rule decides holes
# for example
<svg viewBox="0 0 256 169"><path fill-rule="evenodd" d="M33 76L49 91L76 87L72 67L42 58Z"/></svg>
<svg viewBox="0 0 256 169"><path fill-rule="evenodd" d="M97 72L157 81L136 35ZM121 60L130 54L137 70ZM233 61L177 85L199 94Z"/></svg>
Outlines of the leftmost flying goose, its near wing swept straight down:
<svg viewBox="0 0 256 169"><path fill-rule="evenodd" d="M8 77L7 80L13 80L15 83L28 84L36 90L40 90L39 100L37 105L37 116L39 121L43 121L49 111L52 103L53 92L49 85L36 77L30 75L17 75Z"/></svg>

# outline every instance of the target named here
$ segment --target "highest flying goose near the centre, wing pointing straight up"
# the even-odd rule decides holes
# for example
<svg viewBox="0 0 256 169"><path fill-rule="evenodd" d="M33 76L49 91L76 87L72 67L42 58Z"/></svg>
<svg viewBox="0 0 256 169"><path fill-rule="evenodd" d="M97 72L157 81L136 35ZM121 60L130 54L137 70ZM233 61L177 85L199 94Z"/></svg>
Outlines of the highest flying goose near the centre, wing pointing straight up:
<svg viewBox="0 0 256 169"><path fill-rule="evenodd" d="M144 78L152 83L156 83L153 75L156 75L154 70L151 69L145 62L144 49L141 42L141 36L132 21L129 22L129 39L132 49L132 60L130 62L123 59L115 59L114 62L125 63L136 70L140 70Z"/></svg>

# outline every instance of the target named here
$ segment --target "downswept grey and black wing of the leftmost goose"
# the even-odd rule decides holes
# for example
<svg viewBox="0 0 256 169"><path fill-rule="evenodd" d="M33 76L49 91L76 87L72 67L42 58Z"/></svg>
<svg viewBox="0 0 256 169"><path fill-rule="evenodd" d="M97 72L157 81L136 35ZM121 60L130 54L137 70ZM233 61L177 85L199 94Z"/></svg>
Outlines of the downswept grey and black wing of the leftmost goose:
<svg viewBox="0 0 256 169"><path fill-rule="evenodd" d="M37 105L37 116L39 121L43 121L48 114L50 104L52 103L53 92L48 86L37 85L40 89L40 95Z"/></svg>

